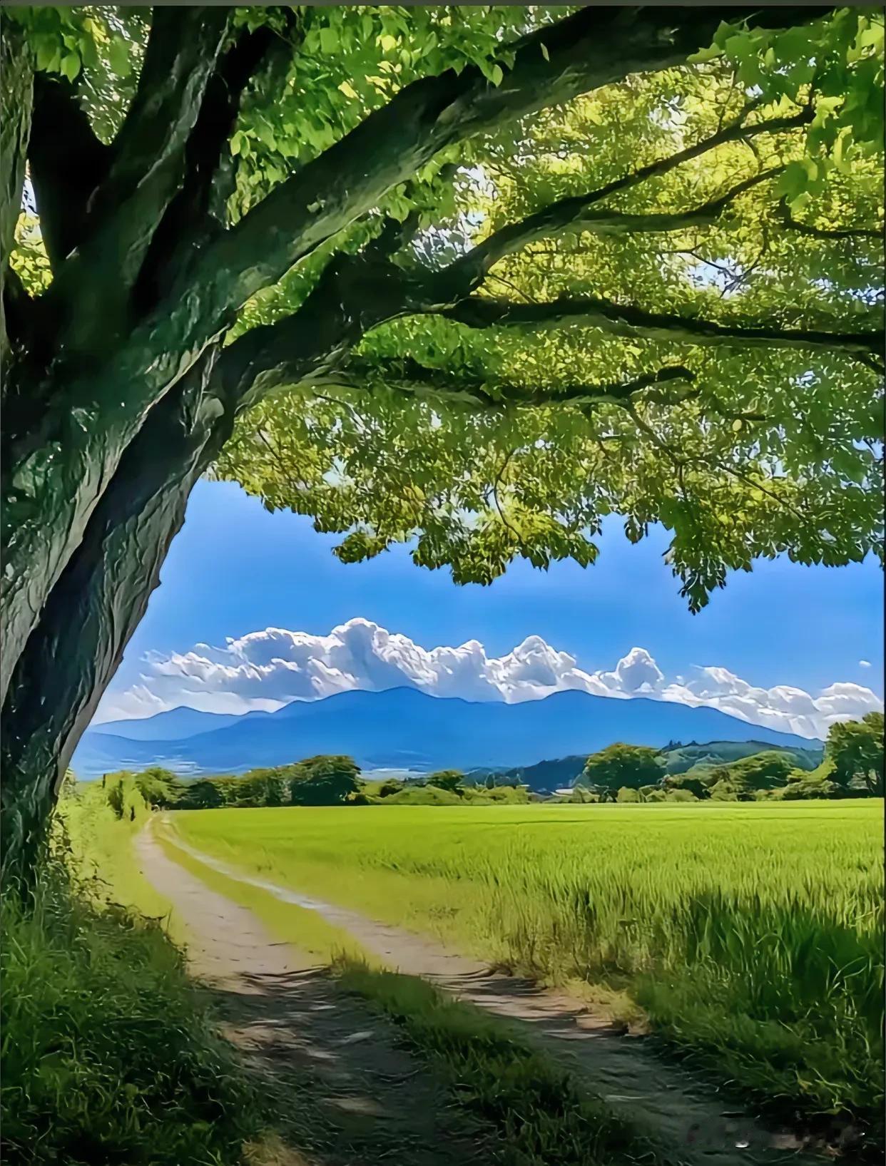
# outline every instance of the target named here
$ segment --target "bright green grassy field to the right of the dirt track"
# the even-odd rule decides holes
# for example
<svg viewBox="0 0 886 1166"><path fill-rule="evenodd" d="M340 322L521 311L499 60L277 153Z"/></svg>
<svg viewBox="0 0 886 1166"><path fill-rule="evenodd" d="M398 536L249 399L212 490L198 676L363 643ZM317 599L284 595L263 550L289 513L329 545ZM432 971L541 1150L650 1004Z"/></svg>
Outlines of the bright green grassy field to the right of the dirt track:
<svg viewBox="0 0 886 1166"><path fill-rule="evenodd" d="M876 1121L883 802L190 812L202 850L465 953L626 992L758 1098Z"/></svg>

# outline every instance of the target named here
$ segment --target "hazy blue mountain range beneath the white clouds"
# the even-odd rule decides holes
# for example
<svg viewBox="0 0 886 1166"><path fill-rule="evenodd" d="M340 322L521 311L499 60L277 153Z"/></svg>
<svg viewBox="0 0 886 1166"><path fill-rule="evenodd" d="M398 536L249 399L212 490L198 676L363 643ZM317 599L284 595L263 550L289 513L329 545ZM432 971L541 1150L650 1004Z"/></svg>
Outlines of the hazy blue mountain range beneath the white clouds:
<svg viewBox="0 0 886 1166"><path fill-rule="evenodd" d="M198 724L218 723L205 721L212 714L198 716ZM163 765L182 774L241 773L315 753L347 753L365 770L509 768L532 766L544 757L584 759L616 740L662 747L673 740L743 742L748 732L767 746L814 746L790 733L751 728L717 709L579 691L521 704L472 703L412 688L339 693L322 701L294 701L276 712L225 718L209 732L150 739L149 722L161 717L171 714L142 722L139 731L146 736L140 739L121 737L119 723L115 733L106 725L90 729L73 756L73 771L91 778ZM180 715L171 721L176 731L183 719Z"/></svg>

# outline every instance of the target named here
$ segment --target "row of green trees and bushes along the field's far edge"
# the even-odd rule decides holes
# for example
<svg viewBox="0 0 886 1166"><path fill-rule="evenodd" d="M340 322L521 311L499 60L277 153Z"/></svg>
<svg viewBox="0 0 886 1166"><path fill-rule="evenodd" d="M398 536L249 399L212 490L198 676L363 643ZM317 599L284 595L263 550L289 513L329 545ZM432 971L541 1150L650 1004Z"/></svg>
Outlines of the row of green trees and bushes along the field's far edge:
<svg viewBox="0 0 886 1166"><path fill-rule="evenodd" d="M757 747L760 746L760 747ZM821 753L817 754L821 757ZM730 758L727 761L722 758ZM542 766L575 765L576 759ZM351 757L323 754L293 765L251 770L241 777L182 779L160 767L103 778L107 800L120 815L121 778L132 778L156 809L248 806L464 806L520 805L554 796L574 802L793 801L810 798L881 798L884 717L831 726L824 756L811 750L765 749L757 742L713 742L663 750L616 743L589 757L565 793L542 795L519 784L520 771L495 774L441 770L428 777L367 780ZM563 772L561 770L561 772ZM575 770L572 770L575 773ZM529 771L523 771L528 777ZM119 802L119 806L117 805Z"/></svg>

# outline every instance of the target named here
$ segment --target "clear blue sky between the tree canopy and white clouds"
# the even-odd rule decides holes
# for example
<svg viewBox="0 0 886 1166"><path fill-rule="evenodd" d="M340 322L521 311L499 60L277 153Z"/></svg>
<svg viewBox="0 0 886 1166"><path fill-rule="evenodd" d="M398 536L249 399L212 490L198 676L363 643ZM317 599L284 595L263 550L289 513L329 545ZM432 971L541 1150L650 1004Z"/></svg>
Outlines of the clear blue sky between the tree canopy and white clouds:
<svg viewBox="0 0 886 1166"><path fill-rule="evenodd" d="M844 681L883 697L884 583L873 560L839 569L760 562L691 616L661 560L663 531L632 546L612 522L595 567L543 573L519 562L488 588L457 588L445 571L414 567L402 547L344 566L335 542L304 518L268 514L239 486L201 482L113 693L139 682L147 652L224 645L266 627L326 635L364 617L424 648L477 639L498 656L539 635L595 672L640 646L669 677L716 666L764 688L817 694Z"/></svg>

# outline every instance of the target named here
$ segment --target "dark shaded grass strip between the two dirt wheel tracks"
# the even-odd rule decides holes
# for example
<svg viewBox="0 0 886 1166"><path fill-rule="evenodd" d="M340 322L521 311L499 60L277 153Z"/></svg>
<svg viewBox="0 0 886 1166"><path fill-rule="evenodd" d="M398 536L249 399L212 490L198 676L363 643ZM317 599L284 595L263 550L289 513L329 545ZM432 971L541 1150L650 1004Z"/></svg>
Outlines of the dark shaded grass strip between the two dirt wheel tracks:
<svg viewBox="0 0 886 1166"><path fill-rule="evenodd" d="M667 1163L604 1102L522 1040L506 1023L453 1000L416 976L339 960L342 988L399 1025L448 1080L458 1105L492 1123L502 1166Z"/></svg>

